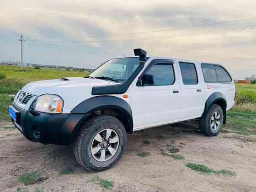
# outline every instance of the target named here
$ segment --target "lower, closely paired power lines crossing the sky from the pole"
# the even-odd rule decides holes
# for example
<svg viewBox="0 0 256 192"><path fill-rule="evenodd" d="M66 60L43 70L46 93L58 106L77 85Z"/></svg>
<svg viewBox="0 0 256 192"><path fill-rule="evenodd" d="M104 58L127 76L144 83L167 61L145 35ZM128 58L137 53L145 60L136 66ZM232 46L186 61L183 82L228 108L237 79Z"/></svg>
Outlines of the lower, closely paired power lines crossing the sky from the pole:
<svg viewBox="0 0 256 192"><path fill-rule="evenodd" d="M194 32L194 33L183 33L169 36L160 36L160 37L145 37L145 38L135 38L135 39L117 39L117 40L101 40L101 41L45 41L45 40L27 40L30 42L46 42L46 43L97 43L97 42L125 42L125 41L139 41L139 40L155 40L155 39L164 39L164 38L174 38L174 37L187 37L187 36L198 36L198 35L208 35L213 33L221 33L221 32L235 32L242 30L256 29L256 25L254 26L245 26L245 27L233 27L227 29L213 30L213 31L205 31L205 32Z"/></svg>

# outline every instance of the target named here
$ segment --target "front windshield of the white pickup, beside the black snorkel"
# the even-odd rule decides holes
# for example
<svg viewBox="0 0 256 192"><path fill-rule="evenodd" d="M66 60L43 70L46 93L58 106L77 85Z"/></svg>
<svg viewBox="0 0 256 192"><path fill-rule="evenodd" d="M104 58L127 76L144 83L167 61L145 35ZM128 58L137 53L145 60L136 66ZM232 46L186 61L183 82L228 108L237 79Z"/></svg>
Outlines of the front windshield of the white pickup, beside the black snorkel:
<svg viewBox="0 0 256 192"><path fill-rule="evenodd" d="M124 81L135 69L137 69L138 66L138 57L111 59L91 72L88 77L103 80Z"/></svg>

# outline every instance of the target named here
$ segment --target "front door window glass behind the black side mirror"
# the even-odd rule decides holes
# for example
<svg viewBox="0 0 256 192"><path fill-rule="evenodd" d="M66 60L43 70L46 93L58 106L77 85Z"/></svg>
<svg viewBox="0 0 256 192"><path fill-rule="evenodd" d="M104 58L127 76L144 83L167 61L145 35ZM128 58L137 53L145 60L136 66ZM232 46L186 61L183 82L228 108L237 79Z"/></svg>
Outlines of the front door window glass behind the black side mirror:
<svg viewBox="0 0 256 192"><path fill-rule="evenodd" d="M154 76L154 85L172 85L175 81L171 63L157 63L148 68L145 74Z"/></svg>

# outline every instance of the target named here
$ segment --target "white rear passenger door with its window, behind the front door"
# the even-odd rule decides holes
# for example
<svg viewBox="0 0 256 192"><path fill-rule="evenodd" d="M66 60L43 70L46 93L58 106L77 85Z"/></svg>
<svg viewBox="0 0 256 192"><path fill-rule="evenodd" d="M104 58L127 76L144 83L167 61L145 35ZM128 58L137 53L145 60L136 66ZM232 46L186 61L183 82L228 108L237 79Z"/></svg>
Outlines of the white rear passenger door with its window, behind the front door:
<svg viewBox="0 0 256 192"><path fill-rule="evenodd" d="M178 60L177 63L181 73L180 119L200 117L205 104L201 79L197 73L200 69L196 62Z"/></svg>

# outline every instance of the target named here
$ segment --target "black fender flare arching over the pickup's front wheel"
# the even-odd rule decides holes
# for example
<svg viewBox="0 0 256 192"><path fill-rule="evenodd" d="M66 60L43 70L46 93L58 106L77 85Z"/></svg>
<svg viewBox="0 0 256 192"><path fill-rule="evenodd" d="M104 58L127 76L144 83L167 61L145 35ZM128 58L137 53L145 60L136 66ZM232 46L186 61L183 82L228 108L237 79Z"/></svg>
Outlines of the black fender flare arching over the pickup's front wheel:
<svg viewBox="0 0 256 192"><path fill-rule="evenodd" d="M89 113L88 118L97 115L116 117L123 123L127 133L133 132L132 109L128 102L117 96L95 96L78 104L71 113ZM77 132L77 130L76 130Z"/></svg>

